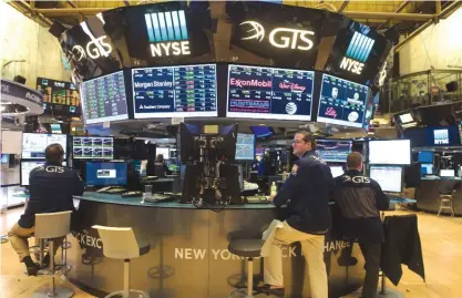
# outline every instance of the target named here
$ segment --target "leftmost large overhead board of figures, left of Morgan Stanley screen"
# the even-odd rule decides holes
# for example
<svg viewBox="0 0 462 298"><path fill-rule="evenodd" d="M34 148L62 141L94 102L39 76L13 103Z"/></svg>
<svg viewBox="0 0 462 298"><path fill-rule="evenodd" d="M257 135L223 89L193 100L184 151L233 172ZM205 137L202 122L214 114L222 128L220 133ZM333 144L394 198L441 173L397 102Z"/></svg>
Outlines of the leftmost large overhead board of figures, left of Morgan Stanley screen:
<svg viewBox="0 0 462 298"><path fill-rule="evenodd" d="M81 94L86 124L129 119L123 71L83 82Z"/></svg>

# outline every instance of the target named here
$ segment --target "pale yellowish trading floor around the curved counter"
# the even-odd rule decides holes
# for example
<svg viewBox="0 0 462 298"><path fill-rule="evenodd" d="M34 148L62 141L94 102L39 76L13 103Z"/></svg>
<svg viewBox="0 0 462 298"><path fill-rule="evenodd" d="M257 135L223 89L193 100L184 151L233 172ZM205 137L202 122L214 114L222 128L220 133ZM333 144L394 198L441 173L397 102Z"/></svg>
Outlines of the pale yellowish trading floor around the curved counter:
<svg viewBox="0 0 462 298"><path fill-rule="evenodd" d="M22 208L10 209L1 215L1 234L18 220ZM414 213L411 210L387 212L387 215L405 215ZM462 297L462 217L437 216L428 213L415 213L419 218L419 232L422 242L424 265L427 268L427 285L422 279L410 271L405 266L398 290L404 294L405 298L460 298ZM444 232L444 233L442 233ZM33 239L31 239L32 242ZM70 236L72 244L75 238ZM60 256L58 251L57 256ZM121 263L121 270L123 264ZM1 298L29 298L31 292L40 285L48 282L47 277L28 277L23 273L24 267L18 263L17 255L10 244L1 245ZM60 281L58 281L60 282ZM71 286L70 282L66 282ZM390 281L387 287L392 288ZM75 288L75 298L94 297L84 290ZM350 294L345 298L359 297L358 294ZM265 295L260 295L266 297Z"/></svg>

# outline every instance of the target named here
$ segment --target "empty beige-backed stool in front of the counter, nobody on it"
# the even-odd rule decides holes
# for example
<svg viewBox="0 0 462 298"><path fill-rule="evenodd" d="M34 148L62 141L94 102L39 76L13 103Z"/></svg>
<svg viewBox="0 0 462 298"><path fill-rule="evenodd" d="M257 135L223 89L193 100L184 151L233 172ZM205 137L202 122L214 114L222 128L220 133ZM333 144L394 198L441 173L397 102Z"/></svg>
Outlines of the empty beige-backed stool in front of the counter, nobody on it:
<svg viewBox="0 0 462 298"><path fill-rule="evenodd" d="M103 242L103 254L107 258L123 259L123 290L109 294L105 298L121 296L123 298L150 298L150 295L142 290L130 288L130 261L141 257L151 250L151 244L142 245L136 238L131 227L106 227L94 225ZM132 295L133 294L133 295Z"/></svg>

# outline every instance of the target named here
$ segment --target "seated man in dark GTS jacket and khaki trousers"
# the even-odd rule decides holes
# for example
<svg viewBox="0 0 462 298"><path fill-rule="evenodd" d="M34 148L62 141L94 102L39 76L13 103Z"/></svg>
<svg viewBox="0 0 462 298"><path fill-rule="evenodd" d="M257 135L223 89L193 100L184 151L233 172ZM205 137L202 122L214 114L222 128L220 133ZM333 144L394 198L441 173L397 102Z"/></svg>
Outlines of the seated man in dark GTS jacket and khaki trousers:
<svg viewBox="0 0 462 298"><path fill-rule="evenodd" d="M51 144L45 150L47 162L35 167L29 175L30 198L24 214L8 233L19 260L25 264L28 275L37 275L40 269L29 254L28 238L33 236L35 214L74 210L73 195L82 195L84 184L79 174L71 168L61 166L64 160L64 150L60 144ZM64 237L54 240L54 251L62 244ZM47 255L43 264L50 263Z"/></svg>

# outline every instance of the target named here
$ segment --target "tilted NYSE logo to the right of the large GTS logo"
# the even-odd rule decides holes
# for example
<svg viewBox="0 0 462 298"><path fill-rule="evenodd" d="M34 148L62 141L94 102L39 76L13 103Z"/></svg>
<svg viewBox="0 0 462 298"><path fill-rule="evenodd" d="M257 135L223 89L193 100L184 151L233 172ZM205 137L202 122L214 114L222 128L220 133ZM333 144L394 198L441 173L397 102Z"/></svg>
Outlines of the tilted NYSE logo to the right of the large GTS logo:
<svg viewBox="0 0 462 298"><path fill-rule="evenodd" d="M355 32L347 53L340 62L340 69L361 74L365 62L368 61L376 41L359 32Z"/></svg>

